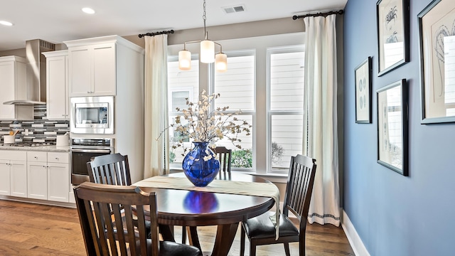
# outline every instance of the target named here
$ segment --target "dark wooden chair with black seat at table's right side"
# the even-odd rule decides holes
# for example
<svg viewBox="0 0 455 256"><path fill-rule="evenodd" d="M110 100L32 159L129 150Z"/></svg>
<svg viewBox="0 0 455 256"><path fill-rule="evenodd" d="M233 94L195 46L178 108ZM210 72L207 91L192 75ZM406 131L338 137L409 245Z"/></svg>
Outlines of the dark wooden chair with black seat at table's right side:
<svg viewBox="0 0 455 256"><path fill-rule="evenodd" d="M279 215L279 238L275 240L275 228L270 216L275 213L267 212L242 223L240 235L240 255L245 253L245 235L250 240L250 256L256 255L257 245L282 243L284 251L289 256L289 242L299 242L299 255L305 255L306 217L309 211L311 193L313 191L316 160L308 156L291 156L287 180L284 206ZM289 219L289 211L299 220L299 228Z"/></svg>

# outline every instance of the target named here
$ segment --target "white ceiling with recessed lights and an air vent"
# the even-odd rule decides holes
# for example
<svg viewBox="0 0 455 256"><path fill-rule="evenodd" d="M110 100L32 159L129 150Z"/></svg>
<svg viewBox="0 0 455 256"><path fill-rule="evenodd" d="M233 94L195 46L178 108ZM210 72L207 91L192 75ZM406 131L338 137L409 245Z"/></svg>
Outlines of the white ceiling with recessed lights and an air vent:
<svg viewBox="0 0 455 256"><path fill-rule="evenodd" d="M348 0L207 0L206 26L218 26L293 15L338 11ZM225 14L222 7L244 5L245 11ZM95 9L85 14L82 7ZM131 36L203 26L203 0L1 0L0 50L25 47L25 41L51 43L95 36Z"/></svg>

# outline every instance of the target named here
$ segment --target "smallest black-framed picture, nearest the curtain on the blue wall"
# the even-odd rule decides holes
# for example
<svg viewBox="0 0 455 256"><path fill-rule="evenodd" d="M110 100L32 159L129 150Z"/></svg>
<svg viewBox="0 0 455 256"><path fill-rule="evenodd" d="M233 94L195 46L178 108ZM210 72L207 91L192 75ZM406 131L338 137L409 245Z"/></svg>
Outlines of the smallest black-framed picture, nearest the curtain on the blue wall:
<svg viewBox="0 0 455 256"><path fill-rule="evenodd" d="M371 57L355 68L355 122L371 123Z"/></svg>

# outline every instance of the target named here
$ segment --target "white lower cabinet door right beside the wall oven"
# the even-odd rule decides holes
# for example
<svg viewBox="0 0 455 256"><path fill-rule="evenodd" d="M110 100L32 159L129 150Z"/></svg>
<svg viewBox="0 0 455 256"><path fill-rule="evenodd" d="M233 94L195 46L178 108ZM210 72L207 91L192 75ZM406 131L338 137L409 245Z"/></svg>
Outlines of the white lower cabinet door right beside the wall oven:
<svg viewBox="0 0 455 256"><path fill-rule="evenodd" d="M70 190L69 164L48 164L48 200L68 203Z"/></svg>

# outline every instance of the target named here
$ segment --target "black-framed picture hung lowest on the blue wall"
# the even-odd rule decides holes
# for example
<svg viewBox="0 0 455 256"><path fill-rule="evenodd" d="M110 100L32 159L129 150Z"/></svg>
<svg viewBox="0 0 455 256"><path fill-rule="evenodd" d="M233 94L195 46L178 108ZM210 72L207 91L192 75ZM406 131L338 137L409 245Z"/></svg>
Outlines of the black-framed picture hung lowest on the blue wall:
<svg viewBox="0 0 455 256"><path fill-rule="evenodd" d="M408 95L406 80L377 90L378 163L404 176L408 175Z"/></svg>

